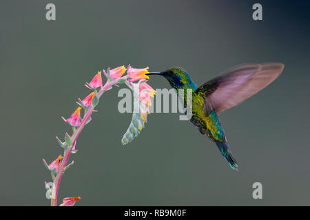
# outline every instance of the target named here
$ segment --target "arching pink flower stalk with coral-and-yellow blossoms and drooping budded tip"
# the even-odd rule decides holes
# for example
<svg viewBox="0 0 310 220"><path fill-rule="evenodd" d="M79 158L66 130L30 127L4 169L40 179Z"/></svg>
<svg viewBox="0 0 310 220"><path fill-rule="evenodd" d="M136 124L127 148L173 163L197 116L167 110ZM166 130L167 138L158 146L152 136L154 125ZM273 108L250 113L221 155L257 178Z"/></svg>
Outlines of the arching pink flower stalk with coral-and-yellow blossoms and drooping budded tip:
<svg viewBox="0 0 310 220"><path fill-rule="evenodd" d="M135 127L134 129L132 129L131 124L130 128L127 129L127 132L124 135L130 138L127 138L125 142L122 140L122 143L127 144L128 142L132 141L132 132L134 132L134 137L136 137L136 135L140 133L142 127L144 126L147 113L149 113L148 106L149 104L151 104L151 102L149 102L149 96L153 97L155 94L155 91L154 89L152 89L152 87L149 87L149 85L147 85L146 83L141 83L148 78L148 76L145 75L147 74L147 68L135 69L130 67L129 65L126 76L123 76L123 74L126 72L125 66L117 67L111 70L110 68L108 68L107 72L103 70L103 74L107 78L107 82L105 83L105 85L103 85L102 83L101 72L98 72L98 74L94 76L90 83L85 84L85 87L87 87L88 89L92 89L93 92L86 96L83 100L79 99L79 102L76 102L77 104L79 104L79 107L76 109L76 111L74 111L74 113L72 113L70 118L65 119L62 117L63 121L72 126L72 135L70 136L68 133L65 133L64 142L62 142L59 137L56 137L56 142L58 142L58 144L64 149L63 156L59 155L59 157L57 157L50 165L48 165L45 162L45 159L43 159L43 164L48 170L50 170L53 180L52 188L50 188L50 185L45 182L45 188L46 190L48 190L51 198L51 206L57 205L59 186L61 183L61 178L63 177L63 173L74 164L73 161L69 164L68 162L71 153L76 153L77 151L75 148L76 140L83 131L85 125L92 119L91 115L93 112L96 111L95 107L99 103L99 99L101 98L101 96L105 93L105 91L112 89L113 85L118 86L118 84L125 84L132 90L136 88L134 91L134 100L139 103L138 109L143 110L141 113L138 114L135 112L132 119L132 124L139 124L138 131L136 131ZM139 82L133 83L136 80L139 80ZM142 91L143 96L139 95L140 90ZM83 118L81 118L81 109L84 109ZM78 201L79 199L81 199L81 197L66 197L65 199L63 199L63 203L61 204L61 206L74 206L76 201Z"/></svg>

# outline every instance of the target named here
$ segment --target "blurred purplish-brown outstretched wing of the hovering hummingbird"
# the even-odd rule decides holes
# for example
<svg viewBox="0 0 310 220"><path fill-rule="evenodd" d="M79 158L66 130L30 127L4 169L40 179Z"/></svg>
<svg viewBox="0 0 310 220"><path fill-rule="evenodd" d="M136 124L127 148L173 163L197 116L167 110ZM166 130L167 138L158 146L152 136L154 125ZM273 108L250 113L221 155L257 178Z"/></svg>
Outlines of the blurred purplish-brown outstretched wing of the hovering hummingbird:
<svg viewBox="0 0 310 220"><path fill-rule="evenodd" d="M249 63L228 69L198 87L205 94L205 115L221 113L240 104L275 80L284 68L282 63Z"/></svg>

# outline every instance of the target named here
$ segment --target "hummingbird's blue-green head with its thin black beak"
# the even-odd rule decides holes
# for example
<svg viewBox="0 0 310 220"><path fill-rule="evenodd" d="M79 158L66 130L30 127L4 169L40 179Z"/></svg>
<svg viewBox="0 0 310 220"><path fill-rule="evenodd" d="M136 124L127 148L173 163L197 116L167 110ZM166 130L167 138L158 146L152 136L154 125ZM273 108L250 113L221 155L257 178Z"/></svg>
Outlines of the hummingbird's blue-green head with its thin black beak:
<svg viewBox="0 0 310 220"><path fill-rule="evenodd" d="M182 67L172 67L163 72L151 72L147 75L158 75L165 77L174 89L181 89L192 84L192 80Z"/></svg>

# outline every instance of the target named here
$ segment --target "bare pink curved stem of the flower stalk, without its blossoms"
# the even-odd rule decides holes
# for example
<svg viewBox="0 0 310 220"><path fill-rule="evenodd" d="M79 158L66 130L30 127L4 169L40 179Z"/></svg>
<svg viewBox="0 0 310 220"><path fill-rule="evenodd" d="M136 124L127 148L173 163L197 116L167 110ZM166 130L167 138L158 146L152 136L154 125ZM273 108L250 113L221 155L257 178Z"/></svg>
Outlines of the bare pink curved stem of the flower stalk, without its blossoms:
<svg viewBox="0 0 310 220"><path fill-rule="evenodd" d="M110 89L110 87L112 87L112 85L114 85L116 82L115 80L107 80L107 83L105 83L105 85L102 87L102 89L96 94L96 97L99 99L102 94L107 91L108 89ZM81 121L81 126L79 126L76 131L74 131L74 133L72 134L72 146L70 148L68 148L63 156L63 160L61 162L61 166L59 168L59 172L57 173L54 181L53 181L53 192L54 192L54 198L51 199L51 206L56 206L57 205L57 195L59 192L59 185L61 182L61 177L63 176L63 171L65 169L65 166L67 166L68 161L69 161L69 157L72 151L72 147L76 144L76 140L79 137L81 131L83 131L83 128L86 124L86 122L90 119L90 116L92 115L92 112L94 111L94 107L92 107L92 105L89 107L89 109L87 110L87 112L85 113L83 120Z"/></svg>

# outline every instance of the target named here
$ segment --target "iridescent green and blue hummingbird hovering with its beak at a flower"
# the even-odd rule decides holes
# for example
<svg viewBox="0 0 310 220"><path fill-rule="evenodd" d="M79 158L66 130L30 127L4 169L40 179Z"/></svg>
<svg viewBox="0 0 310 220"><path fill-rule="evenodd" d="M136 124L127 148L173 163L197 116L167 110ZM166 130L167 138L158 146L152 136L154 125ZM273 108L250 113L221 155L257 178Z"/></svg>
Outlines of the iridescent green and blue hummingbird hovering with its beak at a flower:
<svg viewBox="0 0 310 220"><path fill-rule="evenodd" d="M267 87L283 69L282 63L246 63L228 69L200 87L182 67L149 72L147 75L165 77L178 96L178 89L192 89L192 118L189 121L200 133L215 142L231 168L238 170L218 115ZM184 108L187 107L186 94L184 92Z"/></svg>

